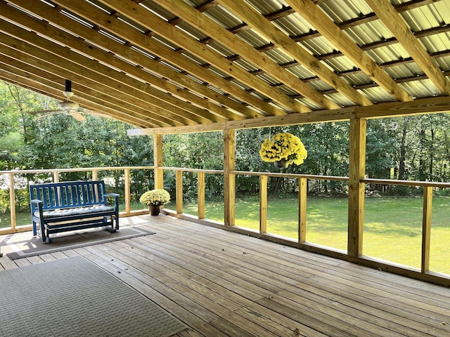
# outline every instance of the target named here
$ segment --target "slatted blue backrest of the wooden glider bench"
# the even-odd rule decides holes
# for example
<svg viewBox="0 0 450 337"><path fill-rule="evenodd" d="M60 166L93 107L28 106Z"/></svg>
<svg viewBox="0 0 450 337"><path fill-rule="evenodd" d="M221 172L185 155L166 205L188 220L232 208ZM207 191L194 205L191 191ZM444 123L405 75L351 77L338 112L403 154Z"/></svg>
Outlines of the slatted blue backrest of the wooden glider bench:
<svg viewBox="0 0 450 337"><path fill-rule="evenodd" d="M103 194L103 180L30 185L30 199L41 200L44 210L103 204Z"/></svg>

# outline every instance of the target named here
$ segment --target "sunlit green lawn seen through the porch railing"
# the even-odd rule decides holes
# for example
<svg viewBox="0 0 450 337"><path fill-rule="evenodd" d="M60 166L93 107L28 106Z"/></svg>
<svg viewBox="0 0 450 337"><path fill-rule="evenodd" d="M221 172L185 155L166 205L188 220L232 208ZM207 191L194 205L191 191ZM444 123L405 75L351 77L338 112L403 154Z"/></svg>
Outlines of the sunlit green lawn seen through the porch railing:
<svg viewBox="0 0 450 337"><path fill-rule="evenodd" d="M308 197L307 242L347 251L347 198ZM420 268L422 239L421 197L368 197L364 211L363 253L409 267ZM434 196L430 270L450 275L450 197ZM121 210L124 207L121 207ZM174 202L167 205L175 209ZM143 209L134 204L131 209ZM197 204L184 202L184 212L197 215ZM222 201L207 201L206 218L224 221ZM0 227L9 227L9 213L0 215ZM267 231L297 239L298 203L295 197L269 199ZM17 213L17 224L30 224L30 213ZM236 200L236 225L259 230L259 199Z"/></svg>

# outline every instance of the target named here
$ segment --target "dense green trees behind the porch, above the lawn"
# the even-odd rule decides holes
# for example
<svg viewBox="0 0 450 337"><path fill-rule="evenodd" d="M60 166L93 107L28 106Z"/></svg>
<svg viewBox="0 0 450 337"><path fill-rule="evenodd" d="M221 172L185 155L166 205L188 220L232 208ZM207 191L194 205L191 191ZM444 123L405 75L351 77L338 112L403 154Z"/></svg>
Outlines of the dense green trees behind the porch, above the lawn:
<svg viewBox="0 0 450 337"><path fill-rule="evenodd" d="M86 115L79 122L65 114L36 118L27 111L56 106L56 100L0 82L0 169L54 169L107 166L153 165L153 138L129 137L127 124ZM366 173L370 178L448 181L450 169L449 114L368 120ZM264 139L276 133L298 136L308 151L300 166L277 169L261 160L259 149ZM193 169L223 169L221 132L165 135L165 166ZM321 176L347 176L349 167L349 123L321 123L276 126L236 131L237 171L281 171ZM122 173L100 171L100 178L112 178L112 190L123 187ZM153 189L153 170L131 172L131 197L138 201ZM46 179L25 176L24 179ZM61 173L64 180L86 180L90 173ZM223 197L223 177L205 175L206 197ZM165 188L173 196L175 177L165 171ZM269 193L297 192L293 179L269 178ZM314 194L346 194L347 184L328 180L309 180ZM236 176L236 192L259 192L257 176ZM411 194L402 187L370 185L368 193ZM197 175L184 173L184 197L196 199Z"/></svg>

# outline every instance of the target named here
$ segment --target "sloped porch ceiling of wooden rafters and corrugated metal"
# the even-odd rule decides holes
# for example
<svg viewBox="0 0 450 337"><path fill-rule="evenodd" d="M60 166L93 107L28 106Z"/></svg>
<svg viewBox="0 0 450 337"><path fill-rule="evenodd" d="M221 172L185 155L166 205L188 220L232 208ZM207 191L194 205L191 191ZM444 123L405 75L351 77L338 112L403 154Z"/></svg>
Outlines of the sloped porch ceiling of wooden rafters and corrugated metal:
<svg viewBox="0 0 450 337"><path fill-rule="evenodd" d="M0 79L71 79L139 128L446 98L449 75L450 0L0 0Z"/></svg>

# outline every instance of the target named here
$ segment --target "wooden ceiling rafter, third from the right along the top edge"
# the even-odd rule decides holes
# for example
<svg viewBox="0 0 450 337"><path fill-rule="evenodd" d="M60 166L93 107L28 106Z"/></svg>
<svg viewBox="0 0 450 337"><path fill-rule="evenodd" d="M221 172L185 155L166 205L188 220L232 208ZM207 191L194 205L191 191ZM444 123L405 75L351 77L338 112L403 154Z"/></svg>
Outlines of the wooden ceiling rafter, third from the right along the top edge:
<svg viewBox="0 0 450 337"><path fill-rule="evenodd" d="M162 0L160 0L162 1ZM171 0L175 1L175 0ZM340 78L337 74L331 71L326 65L319 62L314 55L308 53L304 48L299 46L293 39L290 39L288 35L281 32L275 25L273 25L269 20L266 20L264 16L258 13L254 7L245 1L237 3L234 0L220 0L222 6L231 11L234 15L244 20L262 35L265 39L274 42L278 48L281 48L285 53L290 55L291 58L297 60L300 65L306 67L309 71L317 74L323 81L325 81L329 86L336 88L340 93L345 95L349 100L351 100L355 105L372 105L371 100L361 95L352 86L350 86L347 81ZM215 31L212 31L215 32ZM218 34L219 37L222 34ZM217 39L214 36L214 39ZM248 46L247 46L248 48ZM242 52L240 53L243 56ZM260 64L260 63L259 63ZM274 74L274 72L271 72ZM283 82L283 80L281 80ZM302 93L302 91L299 91ZM302 93L304 95L304 93ZM327 107L328 109L333 109L333 107Z"/></svg>

